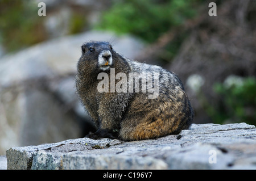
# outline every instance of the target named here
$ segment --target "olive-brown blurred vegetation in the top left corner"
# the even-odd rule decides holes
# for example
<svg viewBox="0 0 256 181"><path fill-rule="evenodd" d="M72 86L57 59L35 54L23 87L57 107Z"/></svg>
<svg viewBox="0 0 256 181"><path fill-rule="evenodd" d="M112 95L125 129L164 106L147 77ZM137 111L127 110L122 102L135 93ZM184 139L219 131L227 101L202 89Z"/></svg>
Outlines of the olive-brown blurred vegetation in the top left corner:
<svg viewBox="0 0 256 181"><path fill-rule="evenodd" d="M23 1L0 1L0 43L7 52L47 39L38 7Z"/></svg>

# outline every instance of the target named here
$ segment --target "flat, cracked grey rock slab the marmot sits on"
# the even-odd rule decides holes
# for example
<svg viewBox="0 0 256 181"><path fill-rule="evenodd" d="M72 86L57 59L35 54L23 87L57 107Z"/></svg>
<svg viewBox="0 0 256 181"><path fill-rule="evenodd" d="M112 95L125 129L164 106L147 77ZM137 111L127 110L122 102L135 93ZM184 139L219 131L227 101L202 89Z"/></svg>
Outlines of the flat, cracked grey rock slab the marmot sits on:
<svg viewBox="0 0 256 181"><path fill-rule="evenodd" d="M256 169L256 129L192 124L155 140L77 138L10 148L6 157L7 169Z"/></svg>

